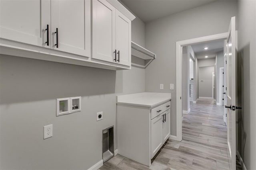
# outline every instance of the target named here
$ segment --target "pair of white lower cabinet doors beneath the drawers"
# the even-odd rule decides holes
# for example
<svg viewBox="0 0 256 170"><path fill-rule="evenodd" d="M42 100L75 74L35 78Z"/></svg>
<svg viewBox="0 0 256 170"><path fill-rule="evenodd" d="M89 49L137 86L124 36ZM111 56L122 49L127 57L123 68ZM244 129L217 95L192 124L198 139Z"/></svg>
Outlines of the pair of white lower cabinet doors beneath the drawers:
<svg viewBox="0 0 256 170"><path fill-rule="evenodd" d="M151 120L151 159L170 136L170 109Z"/></svg>

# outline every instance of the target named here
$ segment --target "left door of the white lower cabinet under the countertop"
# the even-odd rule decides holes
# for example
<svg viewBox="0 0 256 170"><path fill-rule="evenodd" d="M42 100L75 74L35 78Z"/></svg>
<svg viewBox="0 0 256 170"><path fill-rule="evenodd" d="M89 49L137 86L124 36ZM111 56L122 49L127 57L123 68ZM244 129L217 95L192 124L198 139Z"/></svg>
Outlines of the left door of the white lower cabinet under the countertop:
<svg viewBox="0 0 256 170"><path fill-rule="evenodd" d="M162 121L164 121L162 114L151 120L151 159L163 145Z"/></svg>

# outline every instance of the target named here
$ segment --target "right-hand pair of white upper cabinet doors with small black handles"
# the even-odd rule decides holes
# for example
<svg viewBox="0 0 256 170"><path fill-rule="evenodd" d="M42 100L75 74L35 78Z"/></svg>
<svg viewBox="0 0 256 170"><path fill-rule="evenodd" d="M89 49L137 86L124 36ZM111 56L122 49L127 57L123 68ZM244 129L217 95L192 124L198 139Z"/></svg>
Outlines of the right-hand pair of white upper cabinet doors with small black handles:
<svg viewBox="0 0 256 170"><path fill-rule="evenodd" d="M92 1L92 58L131 65L131 20L106 0Z"/></svg>

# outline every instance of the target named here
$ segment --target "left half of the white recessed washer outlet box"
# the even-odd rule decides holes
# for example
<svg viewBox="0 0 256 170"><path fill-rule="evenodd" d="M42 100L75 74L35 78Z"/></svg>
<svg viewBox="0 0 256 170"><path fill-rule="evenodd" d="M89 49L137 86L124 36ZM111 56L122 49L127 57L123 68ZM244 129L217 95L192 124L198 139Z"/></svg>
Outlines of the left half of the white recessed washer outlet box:
<svg viewBox="0 0 256 170"><path fill-rule="evenodd" d="M56 116L70 113L70 98L56 99Z"/></svg>

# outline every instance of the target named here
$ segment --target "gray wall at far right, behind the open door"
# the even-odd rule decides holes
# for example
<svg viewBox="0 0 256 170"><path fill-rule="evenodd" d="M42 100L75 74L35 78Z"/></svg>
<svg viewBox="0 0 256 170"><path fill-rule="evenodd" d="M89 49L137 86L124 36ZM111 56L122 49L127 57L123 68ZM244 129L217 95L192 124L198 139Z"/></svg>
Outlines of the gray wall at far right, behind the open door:
<svg viewBox="0 0 256 170"><path fill-rule="evenodd" d="M238 1L238 151L256 169L256 1Z"/></svg>

